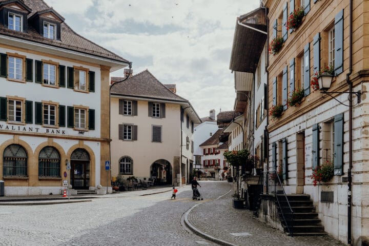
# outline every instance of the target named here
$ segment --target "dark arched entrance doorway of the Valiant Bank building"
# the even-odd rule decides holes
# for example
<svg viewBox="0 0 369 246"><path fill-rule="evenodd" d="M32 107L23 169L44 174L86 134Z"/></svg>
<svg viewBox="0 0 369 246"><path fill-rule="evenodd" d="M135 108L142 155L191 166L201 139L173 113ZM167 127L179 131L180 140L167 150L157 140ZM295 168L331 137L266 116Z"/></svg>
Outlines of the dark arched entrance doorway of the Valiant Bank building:
<svg viewBox="0 0 369 246"><path fill-rule="evenodd" d="M76 149L71 155L71 185L75 190L90 187L90 155L85 149Z"/></svg>

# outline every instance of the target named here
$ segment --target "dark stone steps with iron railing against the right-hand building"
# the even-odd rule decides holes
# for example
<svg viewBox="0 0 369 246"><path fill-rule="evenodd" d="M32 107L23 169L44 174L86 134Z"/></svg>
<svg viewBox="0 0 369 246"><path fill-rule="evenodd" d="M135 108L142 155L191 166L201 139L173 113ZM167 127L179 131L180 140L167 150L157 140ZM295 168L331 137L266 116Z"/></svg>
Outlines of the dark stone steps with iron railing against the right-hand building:
<svg viewBox="0 0 369 246"><path fill-rule="evenodd" d="M287 195L291 208L294 211L293 236L321 236L326 235L318 214L315 213L310 195ZM281 218L280 212L278 212ZM290 236L285 222L281 219L284 232ZM292 223L292 221L287 221Z"/></svg>

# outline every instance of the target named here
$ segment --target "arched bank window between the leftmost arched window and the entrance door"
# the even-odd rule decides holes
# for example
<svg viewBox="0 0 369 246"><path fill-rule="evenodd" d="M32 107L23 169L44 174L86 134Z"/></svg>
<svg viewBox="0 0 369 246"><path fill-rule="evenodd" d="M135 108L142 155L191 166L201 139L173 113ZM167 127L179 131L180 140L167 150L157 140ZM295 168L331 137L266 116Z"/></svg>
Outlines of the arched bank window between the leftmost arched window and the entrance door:
<svg viewBox="0 0 369 246"><path fill-rule="evenodd" d="M42 149L38 155L39 177L60 177L60 155L50 146Z"/></svg>

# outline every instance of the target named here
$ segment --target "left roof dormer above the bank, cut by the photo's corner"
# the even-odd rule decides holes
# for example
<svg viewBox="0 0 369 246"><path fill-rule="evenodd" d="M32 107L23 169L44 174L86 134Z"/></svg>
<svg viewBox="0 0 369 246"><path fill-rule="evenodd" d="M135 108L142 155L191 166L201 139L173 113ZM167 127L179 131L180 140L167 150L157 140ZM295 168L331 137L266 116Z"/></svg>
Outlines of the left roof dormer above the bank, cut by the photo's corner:
<svg viewBox="0 0 369 246"><path fill-rule="evenodd" d="M18 32L27 32L27 15L31 9L20 0L0 2L0 22L6 28Z"/></svg>

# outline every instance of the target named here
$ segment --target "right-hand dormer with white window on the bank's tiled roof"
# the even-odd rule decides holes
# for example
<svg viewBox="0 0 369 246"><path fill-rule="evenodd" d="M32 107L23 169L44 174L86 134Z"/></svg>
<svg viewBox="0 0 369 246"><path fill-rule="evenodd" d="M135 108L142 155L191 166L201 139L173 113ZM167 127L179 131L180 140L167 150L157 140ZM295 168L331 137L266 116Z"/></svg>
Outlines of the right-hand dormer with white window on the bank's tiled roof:
<svg viewBox="0 0 369 246"><path fill-rule="evenodd" d="M30 17L30 22L40 35L60 40L60 24L64 22L64 18L53 8L34 13Z"/></svg>

